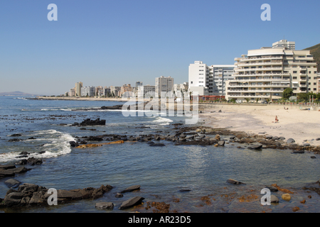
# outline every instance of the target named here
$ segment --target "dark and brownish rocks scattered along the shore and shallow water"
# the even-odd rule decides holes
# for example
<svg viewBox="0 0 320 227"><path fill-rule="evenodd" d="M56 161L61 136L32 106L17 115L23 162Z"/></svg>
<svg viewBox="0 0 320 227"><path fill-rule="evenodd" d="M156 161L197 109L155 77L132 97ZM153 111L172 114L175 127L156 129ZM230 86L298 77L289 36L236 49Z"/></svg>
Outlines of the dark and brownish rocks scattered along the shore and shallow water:
<svg viewBox="0 0 320 227"><path fill-rule="evenodd" d="M97 126L105 125L105 120L97 118L91 120L85 119L81 123L73 123L72 126ZM109 145L114 143L125 142L140 142L147 145L154 146L166 146L161 141L171 141L174 145L201 145L213 147L223 147L225 145L235 145L238 149L252 149L263 150L267 148L279 149L279 150L292 150L293 154L312 152L314 154L320 154L319 146L312 146L310 143L304 143L299 145L295 143L294 138L284 138L277 135L265 135L265 133L259 133L257 135L250 135L242 131L230 131L228 128L210 128L207 126L184 126L182 123L171 124L174 126L172 133L166 134L163 131L157 131L147 135L117 135L117 134L103 134L95 136L75 136L74 141L70 141L70 146L73 149L79 148L91 148L93 146ZM139 127L138 127L139 128ZM143 128L140 127L140 128ZM80 128L83 130L83 128ZM14 134L11 136L19 136ZM318 140L318 138L316 139ZM110 143L102 143L108 141ZM25 165L41 165L43 162L41 159L34 159L28 157L29 153L21 153L21 160L15 163L15 165L21 165L16 167L15 165L2 165L0 166L0 178L14 177L15 173L26 172L31 169L25 167ZM26 159L28 157L28 159ZM311 156L311 158L316 158ZM234 179L228 179L230 184L243 184ZM17 185L18 182L8 182L11 185ZM16 184L15 184L16 183ZM319 182L317 182L319 184ZM50 196L48 189L35 184L20 184L18 189L9 189L4 199L0 199L0 208L6 207L20 207L20 206L48 206L47 199ZM116 197L121 198L123 193L139 190L140 186L129 187L122 192L117 193ZM97 199L105 192L109 192L113 187L110 185L102 185L99 189L85 188L85 189L73 189L73 190L58 190L58 202L63 204L65 202L75 201L79 199ZM318 187L304 187L305 190L314 191L320 195L320 189ZM274 189L273 189L274 190ZM209 198L209 197L208 197ZM208 202L207 199L203 201ZM273 198L274 199L274 198ZM128 209L132 206L142 204L144 197L134 196L127 201L124 201L119 209ZM209 199L210 200L210 199ZM177 200L176 200L177 201ZM175 202L176 202L175 201ZM274 199L277 201L277 199ZM159 203L154 201L148 201L144 204L144 209L150 209L151 207L157 207L154 211L168 211L169 204ZM113 209L114 204L110 201L96 204L97 209Z"/></svg>

